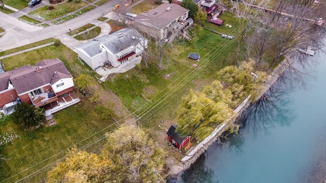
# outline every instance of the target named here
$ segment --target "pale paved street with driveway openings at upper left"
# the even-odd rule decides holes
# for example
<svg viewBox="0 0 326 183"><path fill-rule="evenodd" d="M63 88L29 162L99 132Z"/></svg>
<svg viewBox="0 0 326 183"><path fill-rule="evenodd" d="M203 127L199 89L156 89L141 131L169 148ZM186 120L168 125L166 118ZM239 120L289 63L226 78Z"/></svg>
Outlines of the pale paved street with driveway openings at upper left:
<svg viewBox="0 0 326 183"><path fill-rule="evenodd" d="M26 44L34 43L53 37L61 39L64 44L66 44L64 41L67 41L67 43L70 42L71 45L77 46L78 44L82 44L83 42L76 42L73 41L73 39L70 40L68 35L66 34L69 29L75 29L87 23L93 23L96 25L100 25L101 23L104 24L105 22L100 22L97 20L97 18L103 16L103 14L110 13L114 9L114 6L116 4L122 4L121 0L112 0L65 23L59 25L51 25L49 27L34 26L17 19L19 15L24 15L26 14L26 12L31 11L29 9L39 8L40 5L37 5L33 8L25 8L19 12L13 13L13 15L8 15L3 12L0 12L0 27L6 30L6 34L0 38L0 49L12 49L15 47L23 46ZM108 28L107 25L103 26L106 26L106 28ZM102 31L107 34L111 31L111 27L110 30L102 29ZM71 48L74 50L74 47Z"/></svg>

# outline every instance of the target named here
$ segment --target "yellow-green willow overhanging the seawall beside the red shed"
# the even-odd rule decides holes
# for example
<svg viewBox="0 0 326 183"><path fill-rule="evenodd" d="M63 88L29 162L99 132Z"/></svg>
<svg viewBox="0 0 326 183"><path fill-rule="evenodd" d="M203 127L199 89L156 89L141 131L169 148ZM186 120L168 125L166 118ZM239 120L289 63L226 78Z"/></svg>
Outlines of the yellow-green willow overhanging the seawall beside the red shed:
<svg viewBox="0 0 326 183"><path fill-rule="evenodd" d="M191 135L203 140L234 115L229 106L231 98L232 94L228 90L224 92L219 81L206 86L201 94L191 90L189 95L183 97L177 112L176 132L181 136Z"/></svg>

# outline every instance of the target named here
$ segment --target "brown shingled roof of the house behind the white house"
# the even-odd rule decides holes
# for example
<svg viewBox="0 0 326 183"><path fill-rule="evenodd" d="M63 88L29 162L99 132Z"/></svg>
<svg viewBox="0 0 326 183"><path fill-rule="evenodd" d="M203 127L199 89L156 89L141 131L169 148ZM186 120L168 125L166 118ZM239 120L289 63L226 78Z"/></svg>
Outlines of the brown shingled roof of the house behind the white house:
<svg viewBox="0 0 326 183"><path fill-rule="evenodd" d="M167 11L167 8L169 7L170 10ZM162 29L188 11L189 10L177 4L162 4L155 9L149 10L147 13L137 15L134 21L149 23Z"/></svg>

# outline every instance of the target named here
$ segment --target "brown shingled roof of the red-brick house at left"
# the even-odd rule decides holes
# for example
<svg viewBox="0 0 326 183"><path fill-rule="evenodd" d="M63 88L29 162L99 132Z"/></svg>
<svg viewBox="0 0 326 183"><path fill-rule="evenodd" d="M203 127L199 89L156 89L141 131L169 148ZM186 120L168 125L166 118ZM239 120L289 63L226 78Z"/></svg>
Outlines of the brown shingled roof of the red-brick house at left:
<svg viewBox="0 0 326 183"><path fill-rule="evenodd" d="M4 87L2 86L3 83L7 83L8 87L8 77L19 95L48 84L51 81L55 81L52 79L55 72L59 73L58 75L60 75L61 78L72 77L60 59L46 59L41 60L35 66L26 65L0 74L0 91L4 90Z"/></svg>

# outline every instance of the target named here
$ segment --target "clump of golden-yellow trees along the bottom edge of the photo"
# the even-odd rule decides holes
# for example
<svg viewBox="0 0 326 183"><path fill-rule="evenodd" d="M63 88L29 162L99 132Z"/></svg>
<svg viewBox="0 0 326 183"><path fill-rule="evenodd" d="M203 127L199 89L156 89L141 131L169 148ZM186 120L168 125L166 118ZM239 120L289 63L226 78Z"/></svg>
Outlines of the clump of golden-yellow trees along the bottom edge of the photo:
<svg viewBox="0 0 326 183"><path fill-rule="evenodd" d="M100 155L68 151L48 172L48 182L165 182L165 158L144 131L121 127L107 134Z"/></svg>

